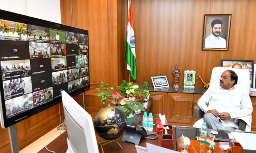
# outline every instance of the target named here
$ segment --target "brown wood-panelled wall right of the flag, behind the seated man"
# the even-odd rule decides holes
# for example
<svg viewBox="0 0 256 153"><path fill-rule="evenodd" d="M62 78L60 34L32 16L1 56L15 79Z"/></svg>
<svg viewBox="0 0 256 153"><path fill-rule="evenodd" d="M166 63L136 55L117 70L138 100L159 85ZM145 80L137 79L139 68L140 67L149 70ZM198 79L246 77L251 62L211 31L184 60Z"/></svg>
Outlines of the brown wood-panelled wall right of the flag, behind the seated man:
<svg viewBox="0 0 256 153"><path fill-rule="evenodd" d="M175 64L181 68L182 86L185 70L209 82L221 59L256 62L255 0L132 0L132 7L138 83L167 75L173 85ZM202 51L205 14L232 14L228 51ZM195 86L203 84L196 80Z"/></svg>

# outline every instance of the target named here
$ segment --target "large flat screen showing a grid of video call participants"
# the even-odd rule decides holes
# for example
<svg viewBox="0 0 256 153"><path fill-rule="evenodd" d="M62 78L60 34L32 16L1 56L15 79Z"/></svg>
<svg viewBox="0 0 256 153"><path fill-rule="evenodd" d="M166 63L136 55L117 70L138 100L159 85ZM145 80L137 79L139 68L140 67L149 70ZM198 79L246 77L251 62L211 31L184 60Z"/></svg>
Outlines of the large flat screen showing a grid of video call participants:
<svg viewBox="0 0 256 153"><path fill-rule="evenodd" d="M0 10L2 127L89 86L88 31Z"/></svg>

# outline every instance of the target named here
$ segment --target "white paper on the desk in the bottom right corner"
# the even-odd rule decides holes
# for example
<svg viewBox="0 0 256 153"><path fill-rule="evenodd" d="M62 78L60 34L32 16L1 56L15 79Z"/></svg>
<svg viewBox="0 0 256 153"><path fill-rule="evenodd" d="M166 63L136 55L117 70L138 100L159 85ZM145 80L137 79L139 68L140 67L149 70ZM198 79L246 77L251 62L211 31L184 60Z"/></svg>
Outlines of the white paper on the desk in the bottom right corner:
<svg viewBox="0 0 256 153"><path fill-rule="evenodd" d="M256 150L256 133L231 132L243 149Z"/></svg>

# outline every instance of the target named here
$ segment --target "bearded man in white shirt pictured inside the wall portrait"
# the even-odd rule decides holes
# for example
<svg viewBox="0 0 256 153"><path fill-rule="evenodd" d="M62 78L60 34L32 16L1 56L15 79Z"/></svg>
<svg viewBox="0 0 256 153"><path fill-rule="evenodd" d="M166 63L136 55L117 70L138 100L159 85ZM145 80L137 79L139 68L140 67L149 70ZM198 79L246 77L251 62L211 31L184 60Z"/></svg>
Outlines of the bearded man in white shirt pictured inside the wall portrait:
<svg viewBox="0 0 256 153"><path fill-rule="evenodd" d="M220 37L222 25L219 19L211 22L211 35L205 39L205 48L226 48L226 40Z"/></svg>

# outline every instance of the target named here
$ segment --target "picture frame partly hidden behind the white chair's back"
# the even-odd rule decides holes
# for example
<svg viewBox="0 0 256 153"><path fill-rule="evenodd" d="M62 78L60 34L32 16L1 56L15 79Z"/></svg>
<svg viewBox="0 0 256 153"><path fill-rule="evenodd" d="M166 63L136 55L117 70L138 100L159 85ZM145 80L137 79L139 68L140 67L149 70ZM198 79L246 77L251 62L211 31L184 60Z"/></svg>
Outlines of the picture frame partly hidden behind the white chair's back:
<svg viewBox="0 0 256 153"><path fill-rule="evenodd" d="M253 87L254 61L253 60L221 60L221 67L242 68L250 72L250 87Z"/></svg>

